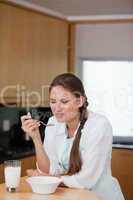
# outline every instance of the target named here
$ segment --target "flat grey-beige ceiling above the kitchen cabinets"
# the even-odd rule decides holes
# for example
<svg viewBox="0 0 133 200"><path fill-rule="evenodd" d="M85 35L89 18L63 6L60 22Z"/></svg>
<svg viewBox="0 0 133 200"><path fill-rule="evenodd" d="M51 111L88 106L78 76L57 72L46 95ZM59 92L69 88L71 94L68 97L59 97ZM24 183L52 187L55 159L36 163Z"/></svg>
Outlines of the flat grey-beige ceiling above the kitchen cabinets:
<svg viewBox="0 0 133 200"><path fill-rule="evenodd" d="M126 16L133 18L133 0L6 0L66 18Z"/></svg>

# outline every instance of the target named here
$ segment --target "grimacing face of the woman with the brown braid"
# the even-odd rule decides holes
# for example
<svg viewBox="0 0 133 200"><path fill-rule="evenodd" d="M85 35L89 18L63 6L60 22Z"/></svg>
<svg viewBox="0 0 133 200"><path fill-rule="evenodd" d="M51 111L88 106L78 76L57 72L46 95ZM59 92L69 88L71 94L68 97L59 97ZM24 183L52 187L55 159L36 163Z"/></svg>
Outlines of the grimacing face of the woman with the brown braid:
<svg viewBox="0 0 133 200"><path fill-rule="evenodd" d="M59 122L69 123L79 117L79 108L83 105L83 97L76 98L62 86L55 86L50 92L50 107Z"/></svg>

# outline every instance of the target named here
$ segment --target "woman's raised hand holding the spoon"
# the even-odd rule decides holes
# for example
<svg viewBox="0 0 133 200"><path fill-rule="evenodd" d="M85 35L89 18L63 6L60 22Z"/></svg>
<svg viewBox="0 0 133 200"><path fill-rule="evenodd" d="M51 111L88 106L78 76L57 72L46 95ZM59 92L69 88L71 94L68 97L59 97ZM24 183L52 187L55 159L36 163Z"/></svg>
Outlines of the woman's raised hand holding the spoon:
<svg viewBox="0 0 133 200"><path fill-rule="evenodd" d="M33 140L40 138L40 123L37 120L32 119L30 113L21 117L21 123L24 132L26 132Z"/></svg>

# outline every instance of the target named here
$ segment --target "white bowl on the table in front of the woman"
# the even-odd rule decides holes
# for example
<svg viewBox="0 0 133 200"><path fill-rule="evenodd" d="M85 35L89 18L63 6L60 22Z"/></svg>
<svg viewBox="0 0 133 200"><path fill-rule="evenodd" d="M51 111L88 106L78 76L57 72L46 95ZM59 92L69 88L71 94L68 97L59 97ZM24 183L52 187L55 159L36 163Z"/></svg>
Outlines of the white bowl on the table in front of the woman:
<svg viewBox="0 0 133 200"><path fill-rule="evenodd" d="M32 176L26 179L33 192L38 194L54 193L61 183L60 178L53 176Z"/></svg>

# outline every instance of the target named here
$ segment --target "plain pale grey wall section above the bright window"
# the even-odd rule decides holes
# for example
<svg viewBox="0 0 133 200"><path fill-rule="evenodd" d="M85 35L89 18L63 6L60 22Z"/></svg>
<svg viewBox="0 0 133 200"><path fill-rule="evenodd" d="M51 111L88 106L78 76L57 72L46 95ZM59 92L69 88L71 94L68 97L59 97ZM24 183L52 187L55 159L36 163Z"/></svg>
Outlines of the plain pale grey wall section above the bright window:
<svg viewBox="0 0 133 200"><path fill-rule="evenodd" d="M77 25L76 57L133 60L133 24Z"/></svg>

